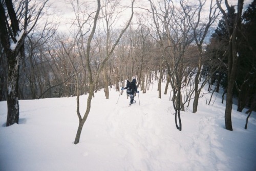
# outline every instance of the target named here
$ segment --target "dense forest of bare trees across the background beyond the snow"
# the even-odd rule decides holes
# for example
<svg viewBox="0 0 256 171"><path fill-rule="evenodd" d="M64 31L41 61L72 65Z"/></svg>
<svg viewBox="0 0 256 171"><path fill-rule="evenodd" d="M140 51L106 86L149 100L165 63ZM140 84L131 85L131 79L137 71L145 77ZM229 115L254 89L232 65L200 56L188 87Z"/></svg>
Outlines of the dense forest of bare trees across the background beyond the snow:
<svg viewBox="0 0 256 171"><path fill-rule="evenodd" d="M255 1L247 16L243 0L233 6L226 0L149 0L143 6L134 0L70 1L75 18L66 32L50 20L48 1L7 2L0 4L0 100L8 102L8 115L16 113L9 125L18 123L18 100L77 96L78 143L94 93L103 89L109 99L110 88L120 91L124 80L133 77L143 93L157 81L156 96L170 94L178 130L180 111L192 105L197 112L207 83L209 92L220 87L226 92L226 129L232 130L235 90L239 111L246 106L253 110L256 43L247 33L255 28ZM22 38L15 39L21 31ZM10 40L18 44L14 50ZM242 67L250 68L243 81L238 72ZM249 93L242 96L246 89ZM81 115L83 94L89 96Z"/></svg>

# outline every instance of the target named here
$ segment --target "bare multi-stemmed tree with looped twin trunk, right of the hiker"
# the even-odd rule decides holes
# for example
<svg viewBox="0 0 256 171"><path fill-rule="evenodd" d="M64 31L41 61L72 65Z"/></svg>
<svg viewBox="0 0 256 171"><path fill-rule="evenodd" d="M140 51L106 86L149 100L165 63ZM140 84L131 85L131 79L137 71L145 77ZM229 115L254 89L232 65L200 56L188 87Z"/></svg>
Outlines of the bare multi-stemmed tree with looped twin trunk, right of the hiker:
<svg viewBox="0 0 256 171"><path fill-rule="evenodd" d="M161 2L161 5L158 4L158 9L152 1L150 3L154 27L162 51L160 68L163 64L166 66L166 68L160 69L159 82L162 82L161 71L166 70L173 89L172 101L175 109L175 123L177 129L181 131L180 110L184 110L181 94L184 77L184 54L193 39L190 35L187 16L182 15L182 11L178 7L176 8L172 1Z"/></svg>

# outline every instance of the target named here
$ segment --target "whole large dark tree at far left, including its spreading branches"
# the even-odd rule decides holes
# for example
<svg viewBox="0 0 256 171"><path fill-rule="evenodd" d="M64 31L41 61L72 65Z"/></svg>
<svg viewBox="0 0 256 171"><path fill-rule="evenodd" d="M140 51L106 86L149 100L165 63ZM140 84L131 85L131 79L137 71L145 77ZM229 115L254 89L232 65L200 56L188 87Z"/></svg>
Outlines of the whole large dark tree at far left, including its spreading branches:
<svg viewBox="0 0 256 171"><path fill-rule="evenodd" d="M6 126L18 124L18 80L19 64L24 58L24 41L37 23L46 1L29 6L28 0L15 2L0 2L0 38L8 63L8 96ZM32 17L33 16L33 17ZM32 25L29 27L29 25ZM9 41L11 40L11 41Z"/></svg>

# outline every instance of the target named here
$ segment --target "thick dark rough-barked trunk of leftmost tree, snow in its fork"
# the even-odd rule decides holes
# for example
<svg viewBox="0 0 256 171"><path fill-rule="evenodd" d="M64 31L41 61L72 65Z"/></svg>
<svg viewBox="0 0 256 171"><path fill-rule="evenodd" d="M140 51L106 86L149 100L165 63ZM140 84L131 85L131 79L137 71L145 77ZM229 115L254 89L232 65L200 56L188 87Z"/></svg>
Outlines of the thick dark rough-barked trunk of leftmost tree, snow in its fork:
<svg viewBox="0 0 256 171"><path fill-rule="evenodd" d="M10 17L10 18L9 18ZM10 22L8 21L10 19ZM7 121L6 126L18 124L19 104L18 104L18 78L19 61L24 55L25 35L20 33L16 13L11 1L0 2L0 38L7 57L8 79L7 79ZM22 34L22 35L20 35ZM9 35L13 44L9 41ZM16 39L16 36L21 36ZM16 45L13 47L12 45Z"/></svg>

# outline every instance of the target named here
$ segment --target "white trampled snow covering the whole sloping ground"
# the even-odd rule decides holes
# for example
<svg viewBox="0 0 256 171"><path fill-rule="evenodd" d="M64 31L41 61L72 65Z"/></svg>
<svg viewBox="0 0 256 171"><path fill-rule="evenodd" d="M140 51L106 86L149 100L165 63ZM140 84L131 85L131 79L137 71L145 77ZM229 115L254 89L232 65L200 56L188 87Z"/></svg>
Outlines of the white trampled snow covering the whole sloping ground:
<svg viewBox="0 0 256 171"><path fill-rule="evenodd" d="M101 90L76 145L76 97L19 101L19 125L10 127L7 102L0 102L0 170L255 170L255 112L245 130L247 114L234 105L227 131L222 94L207 105L210 95L200 98L197 113L191 106L181 112L179 131L169 94L158 99L157 83L131 107L125 93L110 89L105 100ZM82 115L86 101L81 96Z"/></svg>

